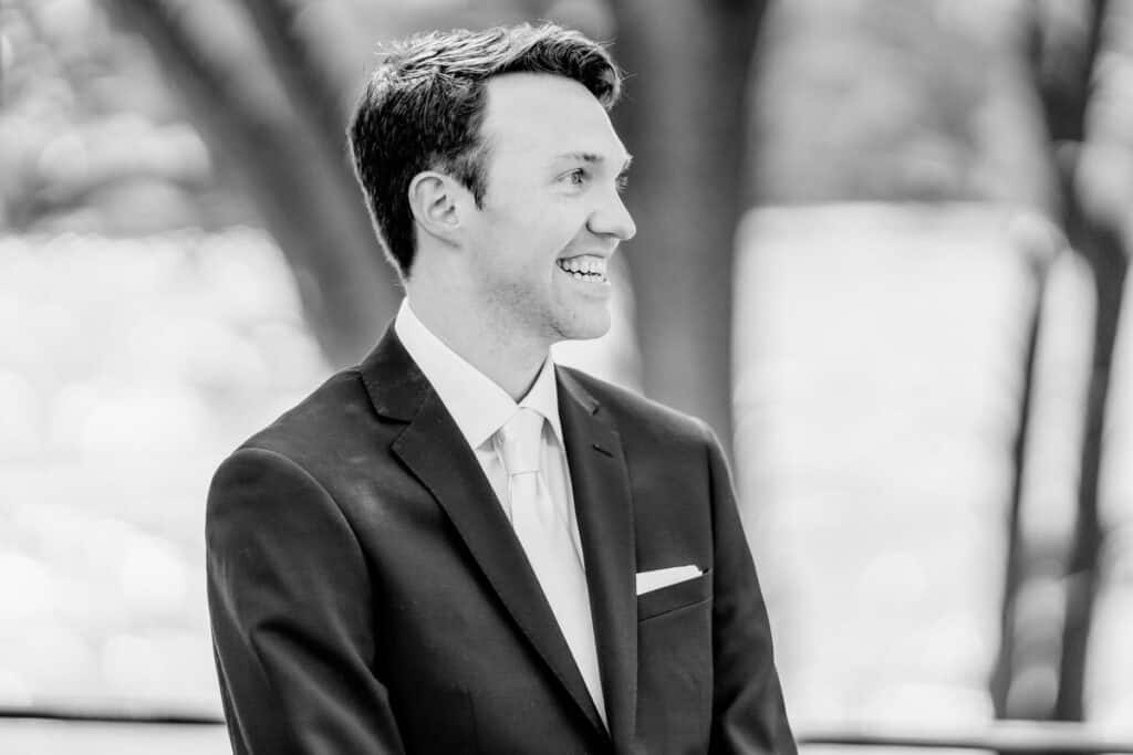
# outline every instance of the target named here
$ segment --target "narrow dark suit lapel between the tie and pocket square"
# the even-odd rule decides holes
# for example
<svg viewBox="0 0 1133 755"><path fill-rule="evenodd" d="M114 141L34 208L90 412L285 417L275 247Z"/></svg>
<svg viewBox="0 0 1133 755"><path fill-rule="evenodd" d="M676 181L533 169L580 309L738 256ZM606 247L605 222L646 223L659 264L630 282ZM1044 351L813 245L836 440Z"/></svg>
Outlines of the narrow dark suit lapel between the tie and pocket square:
<svg viewBox="0 0 1133 755"><path fill-rule="evenodd" d="M625 752L637 728L637 598L633 511L621 438L600 405L559 369L559 414L611 735Z"/></svg>

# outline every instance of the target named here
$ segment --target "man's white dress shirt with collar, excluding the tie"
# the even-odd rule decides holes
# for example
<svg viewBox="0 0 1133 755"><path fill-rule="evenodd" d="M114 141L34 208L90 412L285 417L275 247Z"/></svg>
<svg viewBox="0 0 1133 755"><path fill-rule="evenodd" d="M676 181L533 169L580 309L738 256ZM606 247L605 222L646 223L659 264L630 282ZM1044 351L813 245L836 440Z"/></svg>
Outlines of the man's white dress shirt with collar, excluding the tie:
<svg viewBox="0 0 1133 755"><path fill-rule="evenodd" d="M586 560L582 557L578 518L574 515L574 497L566 465L562 422L559 419L554 362L551 358L547 357L531 388L517 404L499 384L472 367L417 319L408 298L401 302L393 329L406 351L433 384L433 388L465 436L468 446L476 453L476 460L484 469L484 474L492 484L500 505L503 506L508 521L512 518L508 503L508 472L500 453L497 431L519 406L529 406L547 419L543 424L539 451L543 478L554 505L562 507L561 513L565 513L564 518L570 523L570 535L579 561L578 565L563 565L563 568L581 566L585 573ZM587 653L589 658L576 658L576 662L579 666L593 664L593 668L597 668L597 650L593 642L588 645L576 649L576 654ZM605 720L606 711L602 704L600 689L596 695L591 689L591 696L595 697L598 712Z"/></svg>

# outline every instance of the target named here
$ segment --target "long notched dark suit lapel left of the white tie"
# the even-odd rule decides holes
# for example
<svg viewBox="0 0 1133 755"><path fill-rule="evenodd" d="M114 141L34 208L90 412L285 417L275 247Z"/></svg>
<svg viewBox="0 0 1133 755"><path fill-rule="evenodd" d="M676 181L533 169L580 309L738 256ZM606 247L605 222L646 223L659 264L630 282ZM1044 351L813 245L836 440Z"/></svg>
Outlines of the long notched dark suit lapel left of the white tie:
<svg viewBox="0 0 1133 755"><path fill-rule="evenodd" d="M522 636L591 724L604 731L570 647L484 470L392 327L363 363L361 374L375 409L408 422L393 443L393 453L445 511Z"/></svg>

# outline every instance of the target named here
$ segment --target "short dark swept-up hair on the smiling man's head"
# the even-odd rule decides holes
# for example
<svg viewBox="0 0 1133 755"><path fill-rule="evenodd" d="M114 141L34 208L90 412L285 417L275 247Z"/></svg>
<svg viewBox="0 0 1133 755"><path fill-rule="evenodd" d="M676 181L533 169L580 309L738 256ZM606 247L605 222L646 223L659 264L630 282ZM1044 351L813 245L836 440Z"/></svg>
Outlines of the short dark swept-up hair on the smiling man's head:
<svg viewBox="0 0 1133 755"><path fill-rule="evenodd" d="M416 250L410 181L421 171L441 171L482 206L485 83L517 72L574 79L606 110L621 94L621 71L605 48L554 24L429 32L384 51L348 135L374 228L402 276L409 275Z"/></svg>

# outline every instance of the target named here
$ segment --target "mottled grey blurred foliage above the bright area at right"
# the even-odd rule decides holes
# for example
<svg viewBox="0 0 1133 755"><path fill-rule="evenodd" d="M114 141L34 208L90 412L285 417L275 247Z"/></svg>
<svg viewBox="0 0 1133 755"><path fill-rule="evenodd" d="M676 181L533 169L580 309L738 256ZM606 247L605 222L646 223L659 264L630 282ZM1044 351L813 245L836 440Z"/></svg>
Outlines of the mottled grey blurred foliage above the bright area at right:
<svg viewBox="0 0 1133 755"><path fill-rule="evenodd" d="M1026 2L773 6L752 70L761 203L1051 201Z"/></svg>

